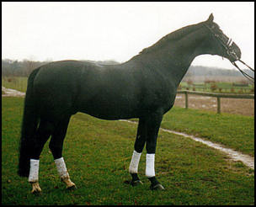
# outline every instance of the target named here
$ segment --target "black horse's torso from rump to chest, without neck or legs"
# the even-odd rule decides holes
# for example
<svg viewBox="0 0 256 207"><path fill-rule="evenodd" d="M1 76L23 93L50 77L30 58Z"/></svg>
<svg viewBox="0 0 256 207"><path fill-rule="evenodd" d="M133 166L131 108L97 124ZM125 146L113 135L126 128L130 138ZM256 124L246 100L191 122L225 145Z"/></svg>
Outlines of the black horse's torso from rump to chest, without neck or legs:
<svg viewBox="0 0 256 207"><path fill-rule="evenodd" d="M56 61L40 67L34 80L42 114L129 119L173 105L163 77L140 64L97 65Z"/></svg>

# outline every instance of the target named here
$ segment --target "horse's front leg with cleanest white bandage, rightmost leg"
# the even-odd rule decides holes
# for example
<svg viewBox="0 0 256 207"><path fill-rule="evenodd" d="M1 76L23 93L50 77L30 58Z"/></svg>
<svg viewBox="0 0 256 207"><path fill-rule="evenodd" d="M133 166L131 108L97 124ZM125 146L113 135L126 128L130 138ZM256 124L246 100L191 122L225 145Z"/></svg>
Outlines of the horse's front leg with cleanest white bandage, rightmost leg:
<svg viewBox="0 0 256 207"><path fill-rule="evenodd" d="M155 175L155 153L157 147L157 135L163 119L163 114L152 114L147 119L147 155L146 176L151 182L150 188L163 190L163 185L157 181Z"/></svg>

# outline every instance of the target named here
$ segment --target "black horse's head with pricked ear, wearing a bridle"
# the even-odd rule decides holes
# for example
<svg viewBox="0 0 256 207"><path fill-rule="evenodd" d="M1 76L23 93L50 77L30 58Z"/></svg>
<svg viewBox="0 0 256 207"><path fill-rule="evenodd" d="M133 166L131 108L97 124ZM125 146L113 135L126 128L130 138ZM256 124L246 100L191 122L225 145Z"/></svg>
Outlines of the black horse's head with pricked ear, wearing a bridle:
<svg viewBox="0 0 256 207"><path fill-rule="evenodd" d="M241 58L241 50L226 34L223 34L219 25L213 22L212 13L209 19L204 22L204 26L207 35L209 35L205 42L209 54L226 57L232 62Z"/></svg>

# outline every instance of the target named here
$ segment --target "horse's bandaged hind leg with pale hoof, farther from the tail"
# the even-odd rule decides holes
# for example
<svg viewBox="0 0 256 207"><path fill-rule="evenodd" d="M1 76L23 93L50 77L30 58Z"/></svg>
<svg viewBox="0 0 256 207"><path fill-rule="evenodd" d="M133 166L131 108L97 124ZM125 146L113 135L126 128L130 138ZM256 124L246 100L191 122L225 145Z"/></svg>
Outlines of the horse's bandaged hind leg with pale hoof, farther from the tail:
<svg viewBox="0 0 256 207"><path fill-rule="evenodd" d="M64 138L67 134L67 125L69 123L70 116L65 119L61 119L56 124L56 129L52 134L49 148L51 149L52 155L54 157L54 162L56 163L57 171L61 177L61 181L66 183L67 188L76 188L75 183L72 183L67 172L67 167L62 157L62 146Z"/></svg>

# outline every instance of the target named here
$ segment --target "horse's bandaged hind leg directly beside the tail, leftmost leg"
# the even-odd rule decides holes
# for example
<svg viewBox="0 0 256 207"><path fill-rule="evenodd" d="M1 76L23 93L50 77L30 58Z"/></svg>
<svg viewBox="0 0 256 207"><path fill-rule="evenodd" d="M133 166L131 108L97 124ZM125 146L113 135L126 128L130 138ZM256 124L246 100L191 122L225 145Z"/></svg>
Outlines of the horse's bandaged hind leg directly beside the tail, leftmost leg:
<svg viewBox="0 0 256 207"><path fill-rule="evenodd" d="M29 183L32 185L32 194L40 193L41 188L39 185L39 162L40 153L44 148L45 142L49 139L53 125L44 119L40 120L40 125L35 134L34 148L31 151L30 157L30 170L29 170Z"/></svg>

